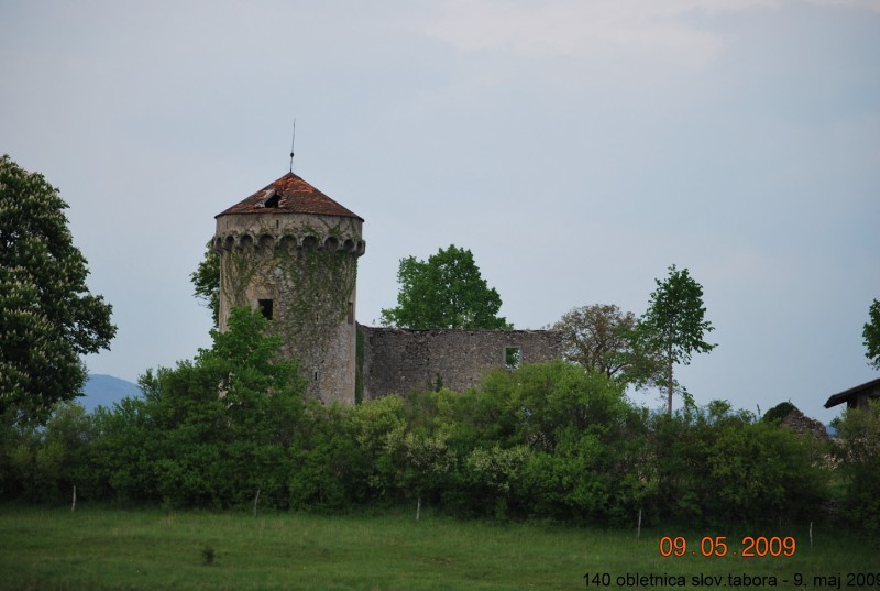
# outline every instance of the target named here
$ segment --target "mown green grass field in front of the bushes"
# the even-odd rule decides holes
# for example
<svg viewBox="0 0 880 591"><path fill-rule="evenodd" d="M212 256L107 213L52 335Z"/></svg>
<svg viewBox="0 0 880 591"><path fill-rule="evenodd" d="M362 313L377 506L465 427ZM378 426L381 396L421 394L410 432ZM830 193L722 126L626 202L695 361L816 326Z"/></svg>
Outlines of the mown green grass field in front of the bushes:
<svg viewBox="0 0 880 591"><path fill-rule="evenodd" d="M631 579L618 585L617 578L628 573L682 576L686 588L705 588L695 584L698 577L722 577L721 585L713 587L745 588L745 580L729 584L737 580L728 574L773 576L783 589L794 589L800 573L809 589L816 589L814 582L834 581L814 577L840 576L840 588L847 588L849 573L880 577L877 545L844 532L816 528L812 549L806 527L746 534L795 536L798 549L789 558L743 558L739 552L705 558L698 551L704 535L728 536L733 552L741 550L745 534L642 530L637 539L635 529L462 522L430 514L416 522L411 514L399 513L253 517L0 506L0 589L681 589L639 585ZM659 539L667 535L685 536L688 554L661 557ZM208 563L211 549L213 560ZM607 573L610 584L602 585L600 577L587 587L585 573ZM880 589L880 580L858 580L862 584L849 589Z"/></svg>

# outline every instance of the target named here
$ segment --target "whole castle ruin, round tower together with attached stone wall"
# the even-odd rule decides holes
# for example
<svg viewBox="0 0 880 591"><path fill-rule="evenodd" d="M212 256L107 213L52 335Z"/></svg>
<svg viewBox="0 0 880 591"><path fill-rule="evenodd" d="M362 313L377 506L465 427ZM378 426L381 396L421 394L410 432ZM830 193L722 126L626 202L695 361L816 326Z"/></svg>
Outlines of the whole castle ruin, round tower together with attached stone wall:
<svg viewBox="0 0 880 591"><path fill-rule="evenodd" d="M439 386L463 391L492 368L561 355L553 331L358 325L364 220L293 173L216 219L220 330L232 308L260 309L282 337L282 354L299 361L309 394L324 403Z"/></svg>

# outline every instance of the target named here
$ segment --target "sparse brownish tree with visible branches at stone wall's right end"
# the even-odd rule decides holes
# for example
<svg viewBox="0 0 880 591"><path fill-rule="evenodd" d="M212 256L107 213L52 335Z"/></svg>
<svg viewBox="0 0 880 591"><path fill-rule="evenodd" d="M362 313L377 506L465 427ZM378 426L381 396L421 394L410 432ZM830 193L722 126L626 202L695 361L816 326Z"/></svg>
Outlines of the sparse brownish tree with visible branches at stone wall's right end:
<svg viewBox="0 0 880 591"><path fill-rule="evenodd" d="M657 355L639 348L636 315L613 304L572 308L551 328L562 333L564 357L586 370L637 385L660 370Z"/></svg>

